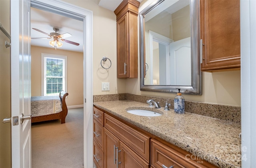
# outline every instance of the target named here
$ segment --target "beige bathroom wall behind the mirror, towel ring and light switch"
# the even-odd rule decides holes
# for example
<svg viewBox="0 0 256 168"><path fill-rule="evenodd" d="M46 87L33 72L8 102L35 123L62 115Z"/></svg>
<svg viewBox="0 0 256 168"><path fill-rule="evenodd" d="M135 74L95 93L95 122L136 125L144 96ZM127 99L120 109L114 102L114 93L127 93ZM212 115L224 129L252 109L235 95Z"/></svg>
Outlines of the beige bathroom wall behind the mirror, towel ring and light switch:
<svg viewBox="0 0 256 168"><path fill-rule="evenodd" d="M116 16L114 12L98 6L97 0L64 0L93 11L93 94L131 93L148 96L174 98L174 93L140 91L140 73L138 79L116 78ZM139 11L150 0L142 1ZM151 1L152 2L152 1ZM138 50L139 52L139 50ZM111 59L112 67L104 70L100 66L103 56ZM138 57L139 60L139 57ZM139 66L138 62L138 66ZM139 68L140 69L140 68ZM110 82L110 91L101 91L101 82ZM240 70L202 73L202 96L183 95L186 100L241 106Z"/></svg>

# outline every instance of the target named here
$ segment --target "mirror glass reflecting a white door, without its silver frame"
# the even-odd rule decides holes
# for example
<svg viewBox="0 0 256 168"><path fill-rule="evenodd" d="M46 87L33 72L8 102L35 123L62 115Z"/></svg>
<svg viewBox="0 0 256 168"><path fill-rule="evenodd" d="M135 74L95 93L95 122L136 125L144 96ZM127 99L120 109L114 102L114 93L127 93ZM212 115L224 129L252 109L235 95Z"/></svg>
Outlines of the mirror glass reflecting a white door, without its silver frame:
<svg viewBox="0 0 256 168"><path fill-rule="evenodd" d="M145 46L148 46L144 84L190 86L190 1L162 3L144 16Z"/></svg>

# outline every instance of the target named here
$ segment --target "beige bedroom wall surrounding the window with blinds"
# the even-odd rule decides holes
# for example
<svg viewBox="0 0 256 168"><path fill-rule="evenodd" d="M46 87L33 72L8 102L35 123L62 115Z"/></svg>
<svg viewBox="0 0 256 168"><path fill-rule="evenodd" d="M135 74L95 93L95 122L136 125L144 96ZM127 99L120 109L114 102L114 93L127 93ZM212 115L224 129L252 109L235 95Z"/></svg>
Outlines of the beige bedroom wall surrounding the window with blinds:
<svg viewBox="0 0 256 168"><path fill-rule="evenodd" d="M42 68L41 54L67 56L67 106L83 104L83 53L31 46L31 96L41 96Z"/></svg>

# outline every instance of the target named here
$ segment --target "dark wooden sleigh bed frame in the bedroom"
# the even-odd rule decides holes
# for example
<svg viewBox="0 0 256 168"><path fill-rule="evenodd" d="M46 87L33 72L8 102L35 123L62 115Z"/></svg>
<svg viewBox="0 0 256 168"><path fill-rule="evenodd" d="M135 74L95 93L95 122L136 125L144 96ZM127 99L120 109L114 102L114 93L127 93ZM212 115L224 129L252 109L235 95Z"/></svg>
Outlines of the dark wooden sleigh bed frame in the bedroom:
<svg viewBox="0 0 256 168"><path fill-rule="evenodd" d="M61 91L60 92L60 100L62 102L62 111L54 114L48 114L44 116L32 116L31 122L42 122L42 121L49 121L49 120L61 120L61 124L65 123L66 116L68 114L68 108L66 105L66 96L68 93Z"/></svg>

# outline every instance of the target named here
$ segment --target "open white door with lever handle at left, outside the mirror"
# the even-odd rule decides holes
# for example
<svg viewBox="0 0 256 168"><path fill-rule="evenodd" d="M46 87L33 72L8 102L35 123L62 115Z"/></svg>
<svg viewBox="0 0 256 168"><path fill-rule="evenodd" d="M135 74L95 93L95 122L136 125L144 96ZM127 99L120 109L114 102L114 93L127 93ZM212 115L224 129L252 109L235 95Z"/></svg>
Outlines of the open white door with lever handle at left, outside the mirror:
<svg viewBox="0 0 256 168"><path fill-rule="evenodd" d="M11 0L12 167L31 168L30 0ZM22 123L22 114L25 119Z"/></svg>

